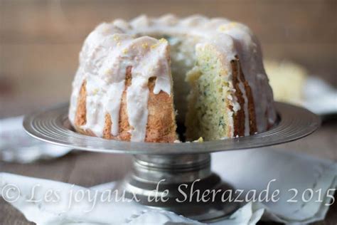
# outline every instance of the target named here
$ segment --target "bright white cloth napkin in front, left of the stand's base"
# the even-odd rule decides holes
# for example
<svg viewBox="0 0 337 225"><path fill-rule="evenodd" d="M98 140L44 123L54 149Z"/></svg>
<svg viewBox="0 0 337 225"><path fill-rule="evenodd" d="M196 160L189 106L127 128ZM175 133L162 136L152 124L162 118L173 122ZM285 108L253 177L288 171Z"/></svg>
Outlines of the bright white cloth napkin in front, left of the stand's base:
<svg viewBox="0 0 337 225"><path fill-rule="evenodd" d="M95 202L95 199L102 199L113 186L105 184L87 189L46 179L0 173L1 196L21 211L28 221L38 225L201 224L173 212L149 209L135 202L114 199ZM78 197L81 200L77 202L75 193L85 193L85 197ZM228 220L216 224L255 224L262 214L263 209L254 208L250 203L237 210Z"/></svg>

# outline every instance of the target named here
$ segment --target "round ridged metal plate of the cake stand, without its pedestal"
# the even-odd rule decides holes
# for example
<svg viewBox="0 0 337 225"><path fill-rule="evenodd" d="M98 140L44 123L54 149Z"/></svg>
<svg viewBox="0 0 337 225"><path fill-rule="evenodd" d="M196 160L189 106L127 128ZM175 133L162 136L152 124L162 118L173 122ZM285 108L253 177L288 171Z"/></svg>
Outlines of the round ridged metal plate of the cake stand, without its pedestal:
<svg viewBox="0 0 337 225"><path fill-rule="evenodd" d="M126 142L90 137L66 128L68 105L69 103L63 103L25 115L24 130L43 142L76 150L133 155L186 155L279 145L306 137L321 125L320 117L314 112L288 103L275 102L277 114L281 118L279 123L256 135L207 142Z"/></svg>

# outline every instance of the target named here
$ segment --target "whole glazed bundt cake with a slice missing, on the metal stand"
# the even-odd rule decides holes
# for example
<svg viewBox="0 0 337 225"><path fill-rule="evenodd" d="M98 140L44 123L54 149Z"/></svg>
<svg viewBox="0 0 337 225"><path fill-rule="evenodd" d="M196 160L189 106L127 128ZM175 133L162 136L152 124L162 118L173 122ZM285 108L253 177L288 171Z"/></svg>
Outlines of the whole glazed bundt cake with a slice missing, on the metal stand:
<svg viewBox="0 0 337 225"><path fill-rule="evenodd" d="M173 98L174 93L174 98ZM139 16L102 23L86 38L69 119L77 132L175 142L253 135L276 120L260 45L227 19Z"/></svg>

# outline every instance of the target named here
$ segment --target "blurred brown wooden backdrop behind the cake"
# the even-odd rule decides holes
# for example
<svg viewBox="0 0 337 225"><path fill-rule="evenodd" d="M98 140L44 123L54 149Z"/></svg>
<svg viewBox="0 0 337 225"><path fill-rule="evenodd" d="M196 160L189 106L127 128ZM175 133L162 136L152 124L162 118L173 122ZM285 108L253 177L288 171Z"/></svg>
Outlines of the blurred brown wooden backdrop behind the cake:
<svg viewBox="0 0 337 225"><path fill-rule="evenodd" d="M0 117L68 101L78 53L102 21L205 14L246 23L265 58L292 61L337 85L336 0L1 0Z"/></svg>

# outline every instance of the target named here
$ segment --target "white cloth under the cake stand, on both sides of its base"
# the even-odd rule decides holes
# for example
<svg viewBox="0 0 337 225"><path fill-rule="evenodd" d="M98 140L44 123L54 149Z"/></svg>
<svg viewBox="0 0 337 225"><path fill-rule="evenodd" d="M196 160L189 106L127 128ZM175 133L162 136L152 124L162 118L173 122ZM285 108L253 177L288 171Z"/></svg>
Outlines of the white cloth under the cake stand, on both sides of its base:
<svg viewBox="0 0 337 225"><path fill-rule="evenodd" d="M277 202L255 202L254 199L247 199L249 203L229 218L215 224L256 224L262 214L263 219L289 224L305 224L324 219L328 210L326 204L331 201L337 184L335 162L280 152L272 148L222 152L213 156L216 156L213 157L213 170L236 189L242 189L242 197L239 199L245 200L245 194L252 193L254 189L257 195L263 193L268 183L270 193L279 190ZM273 181L273 179L276 180ZM39 185L34 192L36 201L28 201L36 185ZM197 223L171 212L147 209L134 202L97 201L95 207L92 207L92 199L100 199L113 185L113 183L102 184L87 189L45 179L0 174L2 197L21 211L29 221L34 221L36 224ZM289 189L297 190L296 197L292 198L294 191ZM301 197L306 189L311 189L313 192L308 202L304 202L310 199L308 194L304 194L304 200ZM321 199L318 196L319 189L321 189ZM48 192L58 192L58 197L54 196L55 202L43 200ZM72 203L71 207L68 207L70 193L78 192L90 194L87 194L87 198ZM270 193L269 196L271 196ZM53 196L53 194L49 195ZM295 202L287 202L289 199ZM318 199L319 201L316 201Z"/></svg>

